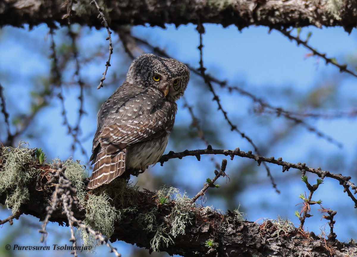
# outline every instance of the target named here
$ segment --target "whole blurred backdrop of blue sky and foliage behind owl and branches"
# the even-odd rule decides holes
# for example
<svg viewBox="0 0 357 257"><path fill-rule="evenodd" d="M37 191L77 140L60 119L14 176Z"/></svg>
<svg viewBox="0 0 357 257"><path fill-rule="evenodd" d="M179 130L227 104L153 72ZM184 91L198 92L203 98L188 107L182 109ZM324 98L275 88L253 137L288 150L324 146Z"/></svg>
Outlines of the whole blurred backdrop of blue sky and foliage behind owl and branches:
<svg viewBox="0 0 357 257"><path fill-rule="evenodd" d="M291 163L300 161L312 168L342 173L351 176L356 183L356 78L340 73L331 64L325 65L325 60L313 56L278 31L250 27L240 32L234 26L223 29L219 25L205 25L205 29L203 61L206 74L226 81L225 86L214 83L215 92L230 121L254 142L260 154L281 156ZM200 67L199 34L193 25L178 28L168 25L166 29L136 26L113 32L111 66L104 87L97 90L109 53L105 29L77 25L55 30L45 25L31 30L3 27L0 30L0 84L10 115L11 137L6 132L4 115L0 113L0 141L17 147L19 141L24 140L31 148L41 147L47 162L54 158L81 160L90 174L92 167L88 160L97 111L124 81L132 60L125 47L135 57L143 52L155 52L154 47L157 47L195 69ZM312 32L309 45L336 58L338 63L347 63L355 71L355 30L348 35L341 28L309 27L302 30L301 38L306 38L309 32ZM296 35L296 31L292 34ZM135 37L148 44L135 41ZM242 91L274 108L253 101L253 97ZM202 77L191 72L185 96L178 102L174 130L165 153L204 149L207 144L213 149L254 150L245 138L231 130L212 98ZM279 108L304 123L286 118L279 113ZM331 140L327 140L330 137ZM193 197L202 189L206 178L214 177L213 171L219 169L217 165L222 158L224 156L216 155L201 156L201 161L194 156L171 159L163 166L152 166L132 180L149 190L163 184L171 185ZM239 206L248 220L257 222L280 215L297 226L299 220L294 211L300 211L298 196L308 192L300 179L301 172L290 169L282 173L280 166L268 164L268 167L280 193L273 188L263 165L257 166L253 160L236 156L228 160L229 179L220 178L217 183L221 187L209 189L197 204L213 206L222 212ZM317 178L307 175L310 183ZM337 211L335 232L338 240L357 238L357 211L337 180L325 179L313 198L321 199L325 208ZM312 206L314 216L306 220L305 229L319 234L327 223L321 220L322 214L317 209ZM10 214L11 211L1 206L1 219ZM40 226L38 219L24 215L12 226L4 224L0 256L46 256L48 252L7 251L2 247L15 243L40 245L37 232ZM70 245L69 229L57 224L48 229L47 245ZM147 250L124 242L116 242L114 246L122 256L149 255ZM109 254L104 246L96 251L99 256ZM52 256L68 254L51 251ZM165 253L151 256L165 256Z"/></svg>

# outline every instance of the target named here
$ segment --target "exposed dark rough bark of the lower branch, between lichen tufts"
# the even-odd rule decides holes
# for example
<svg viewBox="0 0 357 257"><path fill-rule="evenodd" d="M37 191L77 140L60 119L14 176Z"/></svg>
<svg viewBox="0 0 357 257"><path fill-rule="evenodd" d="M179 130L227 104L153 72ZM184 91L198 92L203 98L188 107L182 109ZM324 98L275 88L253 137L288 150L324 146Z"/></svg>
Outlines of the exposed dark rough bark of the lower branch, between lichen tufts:
<svg viewBox="0 0 357 257"><path fill-rule="evenodd" d="M1 171L0 171L1 172ZM47 212L46 205L49 204L51 197L50 187L47 190L38 191L36 182L29 185L30 200L23 204L20 212L38 217L43 220ZM151 208L155 207L154 203L148 203L148 199L153 194L141 192L138 197L142 205L137 206L139 213L145 214ZM1 204L5 204L6 194L0 195ZM166 208L160 212L162 215L158 217L165 222L167 215ZM153 233L148 232L140 225L134 216L126 216L120 223L115 224L114 234L110 241L117 240L127 243L136 244L139 247L150 249L151 238ZM235 219L235 214L228 211L222 215L213 211L197 210L200 216L192 222L192 225L186 227L185 235L173 238L174 243L169 247L161 247L160 251L165 251L170 255L178 254L185 257L193 256L319 256L319 257L345 257L348 252L357 251L356 247L348 246L346 243L328 242L315 236L314 233L307 234L303 231L296 230L295 232L285 235L277 229L270 221L263 224L258 224L250 221L238 221ZM77 219L84 220L85 213L80 209L74 210L74 216ZM21 219L21 217L20 217ZM58 222L60 225L67 224L67 217L59 211L55 212L50 221ZM171 224L167 223L167 227ZM40 235L39 235L40 236ZM213 239L214 246L208 248L205 246L208 239ZM120 249L119 249L120 252Z"/></svg>

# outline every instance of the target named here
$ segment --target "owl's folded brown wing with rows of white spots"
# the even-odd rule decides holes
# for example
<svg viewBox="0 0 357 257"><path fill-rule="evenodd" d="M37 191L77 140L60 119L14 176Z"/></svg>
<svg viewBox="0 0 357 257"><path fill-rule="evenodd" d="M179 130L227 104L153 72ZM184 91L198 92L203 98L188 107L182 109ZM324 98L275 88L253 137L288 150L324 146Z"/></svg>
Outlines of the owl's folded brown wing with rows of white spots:
<svg viewBox="0 0 357 257"><path fill-rule="evenodd" d="M99 142L123 149L128 145L159 138L172 130L175 114L176 108L167 103L153 113L144 113L131 119L116 119L103 126Z"/></svg>

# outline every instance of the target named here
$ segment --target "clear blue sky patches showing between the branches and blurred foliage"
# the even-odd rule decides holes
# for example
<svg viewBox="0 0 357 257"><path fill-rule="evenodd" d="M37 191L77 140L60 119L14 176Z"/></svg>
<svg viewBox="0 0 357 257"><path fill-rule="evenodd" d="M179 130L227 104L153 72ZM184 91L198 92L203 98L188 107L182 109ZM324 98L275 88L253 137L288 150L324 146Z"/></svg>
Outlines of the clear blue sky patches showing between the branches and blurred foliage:
<svg viewBox="0 0 357 257"><path fill-rule="evenodd" d="M229 86L244 88L276 107L309 110L308 101L301 102L302 106L300 106L299 103L294 101L295 98L293 97L308 98L309 94L316 91L321 85L328 83L335 85L337 83L332 96L323 100L320 111L331 113L336 108L340 110L356 108L356 78L339 74L336 67L326 66L325 61L321 58L306 58L309 51L302 46L297 46L295 42L288 40L280 32L273 30L268 33L266 27L250 27L242 31L238 31L234 26L223 29L218 25L205 25L205 28L203 55L207 73L219 79L227 80ZM51 53L48 31L49 29L44 25L31 31L10 27L4 27L0 31L0 83L5 88L6 104L10 115L27 112L30 103L29 91L36 90L36 84L41 83L41 77L49 75L50 61L44 59L44 56L49 56ZM302 29L301 37L306 38L309 31L312 32L309 43L316 47L318 51L327 53L328 57L336 57L341 63L348 59L356 60L357 34L355 30L351 35L348 35L342 28L317 29L309 27ZM167 26L167 29L137 26L132 29L132 34L144 38L154 46L165 49L169 55L182 62L196 68L199 67L199 52L197 50L199 35L193 25L180 26L177 29L171 25ZM57 47L60 47L63 35L64 32L61 30L56 32L55 42L58 44ZM125 74L130 63L129 58L122 51L122 46L119 43L114 45L112 66L108 70L105 87L100 90L96 89L108 55L106 36L105 30L84 29L81 31L79 41L80 58L89 58L94 53L101 53L101 55L95 55L90 63L83 65L81 70L81 77L91 85L86 89L85 110L87 115L81 122L81 138L84 139L83 145L88 155L90 155L92 135L94 135L96 129L96 113L99 108L94 104L94 100L102 99L104 101L110 96L119 86L119 84L110 84L113 76ZM114 34L113 42L118 42L118 37ZM73 67L66 69L64 81L75 80L71 75ZM354 67L351 67L351 69L355 70ZM196 102L201 94L202 97L207 97L208 101L212 98L210 93L207 93L206 89L197 83L198 80L199 78L192 76L185 93L187 102L195 110L202 107L200 101ZM286 128L284 118L277 118L274 115L253 114L251 99L237 93L228 93L226 89L220 89L216 85L215 89L220 93L223 106L233 123L237 124L238 128L251 137L253 141L263 142L264 145L265 139L269 138L272 133L284 131ZM62 94L65 96L69 121L71 124L75 124L78 110L76 99L79 96L79 90L75 86L66 87ZM331 98L333 98L333 101ZM189 124L190 116L187 109L183 107L182 99L178 102L178 108L176 125ZM253 150L246 140L238 134L230 132L230 128L223 120L221 113L217 112L215 102L209 102L207 112L210 113L210 118L217 120L217 122L210 123L212 128L221 128L223 131L222 141L225 142L223 148L240 147L244 151ZM72 139L66 135L66 128L62 126L63 119L60 113L60 102L55 100L49 108L40 112L36 117L35 124L29 128L32 132L36 131L36 133L32 133L34 137L21 138L29 141L30 147L42 147L47 153L48 159L56 157L66 159L71 156ZM3 122L2 119L3 117L0 116L1 123ZM274 122L271 123L272 119ZM321 166L323 170L329 170L332 173L341 172L343 175L352 176L352 182L356 183L357 136L355 118L308 119L307 121L318 130L340 141L343 148L338 148L325 139L318 138L315 134L308 132L306 128L298 125L293 129L290 137L283 142L273 142L266 145L269 148L267 157L275 156L277 158L282 156L284 160L292 163L300 161L306 162L308 166L313 168ZM4 131L0 131L0 138L3 137ZM195 145L195 149L205 147L199 141ZM215 145L213 147L215 148ZM216 146L216 148L219 147ZM178 149L175 145L172 145L172 142L169 142L166 152L171 149L183 151L186 148ZM336 166L340 163L338 159L334 159L338 156L343 156L346 161L343 167L338 167L339 169ZM73 157L74 159L84 160L86 163L87 157L82 155L79 150L75 151ZM218 162L222 159L221 156L216 158ZM198 192L202 188L205 179L208 176L212 177L212 171L215 169L210 161L204 161L208 159L208 156L202 157L202 159L201 162L197 162L194 157L186 157L184 162L172 160L171 164L178 166L175 174L170 174L167 170L170 167L168 163L163 167L155 165L147 172L155 175L167 174L172 176L174 180L180 180L179 189L182 192L187 191L193 197L194 192ZM247 162L251 162L251 160L236 157L233 161L228 161L228 172L231 174L240 172L240 164ZM300 181L296 170L282 173L281 167L270 165L270 168L281 194L275 192L266 177L265 170L260 168L259 174L255 179L252 179L252 184L247 186L246 190L238 196L238 199L232 199L232 201L241 204L247 213L248 220L275 219L280 215L298 224L298 219L294 215L294 211L298 210L298 207L295 205L301 202L298 195L307 191L306 186ZM310 183L313 183L317 178L308 175ZM141 177L138 178L139 183ZM224 187L225 183L225 179L219 181L221 187ZM155 188L149 189L155 190ZM357 237L355 226L357 212L353 208L352 200L342 190L338 181L325 179L321 190L316 191L314 199L322 199L324 207L337 210L335 217L337 239L346 241L348 238ZM223 212L226 211L226 206L221 205L219 199L209 194L204 205L213 205L217 209L222 209ZM325 226L326 222L321 220L322 215L316 211L318 208L313 206L312 209L315 216L306 221L305 228L318 234L320 227ZM8 213L8 211L1 211L0 219L4 219ZM35 221L36 219L32 220L33 223L36 223ZM11 227L4 225L2 230L5 231L5 229L8 231ZM57 226L55 225L53 229L56 230ZM6 236L6 233L1 233L0 239ZM32 243L38 243L39 238L39 234L30 231L21 236L21 240ZM50 235L49 238L51 238L49 240L56 240L55 235ZM60 238L59 240L66 242L67 239ZM126 248L125 243L117 242L115 245L119 249L130 251L129 248ZM16 254L21 256L23 253L17 252Z"/></svg>

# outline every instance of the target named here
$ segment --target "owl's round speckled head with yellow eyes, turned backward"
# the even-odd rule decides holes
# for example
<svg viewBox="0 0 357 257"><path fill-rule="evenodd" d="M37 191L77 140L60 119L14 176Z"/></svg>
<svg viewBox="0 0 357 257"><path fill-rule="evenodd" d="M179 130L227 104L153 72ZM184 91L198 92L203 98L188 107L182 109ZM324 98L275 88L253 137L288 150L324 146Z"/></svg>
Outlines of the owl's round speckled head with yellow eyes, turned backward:
<svg viewBox="0 0 357 257"><path fill-rule="evenodd" d="M137 57L126 74L130 84L158 91L169 101L183 96L189 79L190 71L185 64L151 53Z"/></svg>

